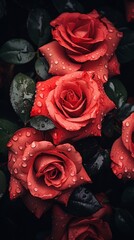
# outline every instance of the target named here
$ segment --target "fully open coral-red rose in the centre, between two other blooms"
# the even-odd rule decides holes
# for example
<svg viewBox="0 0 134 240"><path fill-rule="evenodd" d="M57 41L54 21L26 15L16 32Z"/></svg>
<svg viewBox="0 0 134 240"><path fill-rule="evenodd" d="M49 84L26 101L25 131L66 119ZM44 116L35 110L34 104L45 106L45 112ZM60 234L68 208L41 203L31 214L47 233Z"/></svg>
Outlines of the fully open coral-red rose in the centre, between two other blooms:
<svg viewBox="0 0 134 240"><path fill-rule="evenodd" d="M114 107L101 81L93 73L78 71L38 82L31 116L50 118L56 128L49 134L59 144L100 136L103 117Z"/></svg>

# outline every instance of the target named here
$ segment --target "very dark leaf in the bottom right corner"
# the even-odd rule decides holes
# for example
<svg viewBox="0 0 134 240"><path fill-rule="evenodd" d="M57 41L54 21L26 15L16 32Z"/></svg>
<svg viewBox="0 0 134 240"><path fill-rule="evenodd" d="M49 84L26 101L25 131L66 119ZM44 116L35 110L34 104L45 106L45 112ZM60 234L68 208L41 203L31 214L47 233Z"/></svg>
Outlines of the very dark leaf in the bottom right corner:
<svg viewBox="0 0 134 240"><path fill-rule="evenodd" d="M116 209L114 213L114 223L117 231L122 235L134 237L134 218L126 209Z"/></svg>

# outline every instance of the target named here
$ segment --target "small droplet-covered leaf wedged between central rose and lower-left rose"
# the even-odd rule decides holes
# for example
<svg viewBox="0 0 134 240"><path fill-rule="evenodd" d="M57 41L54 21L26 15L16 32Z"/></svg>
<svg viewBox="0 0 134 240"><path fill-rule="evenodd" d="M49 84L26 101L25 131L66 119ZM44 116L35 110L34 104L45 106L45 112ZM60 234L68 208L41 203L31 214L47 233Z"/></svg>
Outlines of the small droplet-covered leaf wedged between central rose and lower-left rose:
<svg viewBox="0 0 134 240"><path fill-rule="evenodd" d="M44 116L36 116L30 119L30 125L37 130L46 131L55 128L53 122Z"/></svg>

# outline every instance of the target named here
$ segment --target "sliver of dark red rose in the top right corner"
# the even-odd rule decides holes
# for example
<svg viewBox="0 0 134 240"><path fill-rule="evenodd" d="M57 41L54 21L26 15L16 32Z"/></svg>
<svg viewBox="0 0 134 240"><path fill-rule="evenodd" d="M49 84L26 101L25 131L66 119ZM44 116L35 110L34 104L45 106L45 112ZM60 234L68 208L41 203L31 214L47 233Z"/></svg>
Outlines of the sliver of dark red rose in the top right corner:
<svg viewBox="0 0 134 240"><path fill-rule="evenodd" d="M125 12L127 22L134 21L134 1L133 0L124 0L125 3Z"/></svg>

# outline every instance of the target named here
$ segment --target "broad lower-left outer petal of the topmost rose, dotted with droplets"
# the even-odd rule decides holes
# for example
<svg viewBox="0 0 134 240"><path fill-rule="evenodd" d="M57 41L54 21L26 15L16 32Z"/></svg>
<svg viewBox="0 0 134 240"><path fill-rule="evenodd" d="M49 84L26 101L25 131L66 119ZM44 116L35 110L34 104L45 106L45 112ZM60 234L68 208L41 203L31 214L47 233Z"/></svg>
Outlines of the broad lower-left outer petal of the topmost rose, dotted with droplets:
<svg viewBox="0 0 134 240"><path fill-rule="evenodd" d="M81 64L73 63L67 57L65 49L58 42L53 41L39 48L49 63L49 73L52 75L64 75L80 69Z"/></svg>

